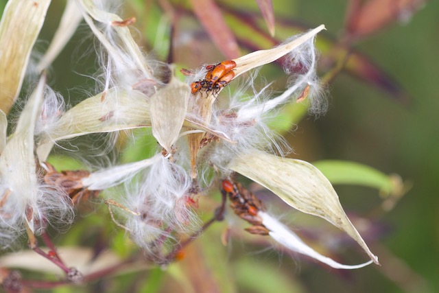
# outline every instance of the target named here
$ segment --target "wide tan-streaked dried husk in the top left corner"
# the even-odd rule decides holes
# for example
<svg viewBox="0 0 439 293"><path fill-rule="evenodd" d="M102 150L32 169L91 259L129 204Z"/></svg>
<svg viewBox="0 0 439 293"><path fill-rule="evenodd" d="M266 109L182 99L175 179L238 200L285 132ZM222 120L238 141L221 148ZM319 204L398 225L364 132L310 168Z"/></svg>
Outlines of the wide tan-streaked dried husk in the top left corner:
<svg viewBox="0 0 439 293"><path fill-rule="evenodd" d="M10 0L3 11L0 23L0 109L6 114L20 93L29 56L50 2Z"/></svg>

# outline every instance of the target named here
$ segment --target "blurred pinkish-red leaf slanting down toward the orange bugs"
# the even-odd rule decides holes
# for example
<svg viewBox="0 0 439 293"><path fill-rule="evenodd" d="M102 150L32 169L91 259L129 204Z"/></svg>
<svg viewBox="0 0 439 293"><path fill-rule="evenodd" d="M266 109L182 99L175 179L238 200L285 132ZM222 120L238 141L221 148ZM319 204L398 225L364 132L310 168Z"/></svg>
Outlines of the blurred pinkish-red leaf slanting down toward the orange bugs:
<svg viewBox="0 0 439 293"><path fill-rule="evenodd" d="M241 55L235 35L224 21L222 12L215 4L215 1L191 0L191 5L193 12L211 36L213 43L222 51L222 54L229 59Z"/></svg>

